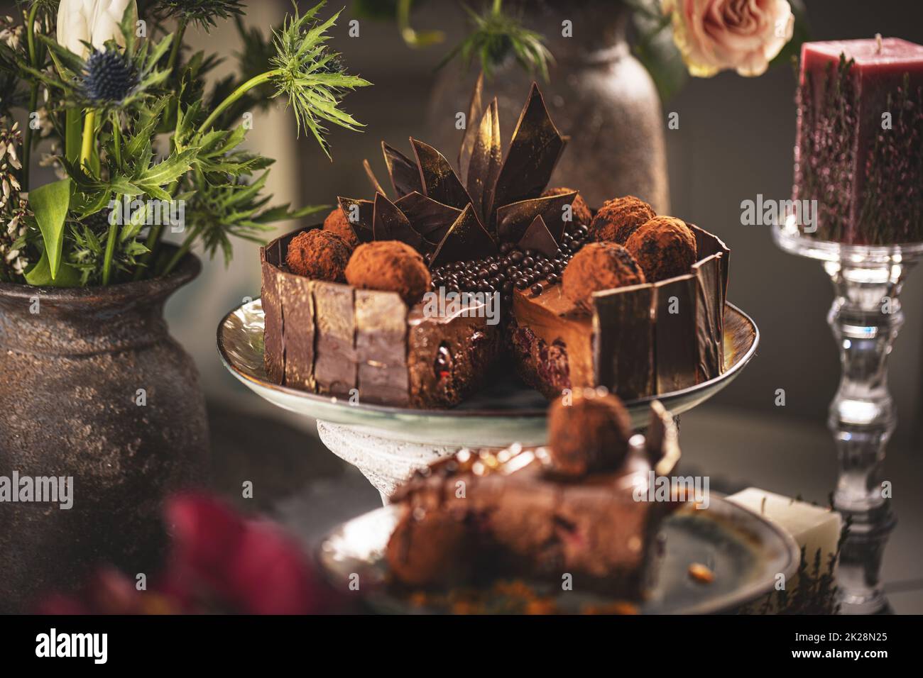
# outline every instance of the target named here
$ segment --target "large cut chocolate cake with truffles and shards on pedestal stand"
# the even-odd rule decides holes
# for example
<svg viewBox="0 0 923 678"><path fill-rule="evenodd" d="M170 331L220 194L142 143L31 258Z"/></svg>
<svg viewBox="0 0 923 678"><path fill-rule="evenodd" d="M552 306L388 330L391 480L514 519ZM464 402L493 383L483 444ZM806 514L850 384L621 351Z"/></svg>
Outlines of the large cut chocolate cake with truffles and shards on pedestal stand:
<svg viewBox="0 0 923 678"><path fill-rule="evenodd" d="M261 249L272 381L412 408L458 404L503 353L548 398L650 396L720 374L724 244L639 198L549 187L566 145L533 84L504 154L474 89L458 163L382 143L389 186ZM587 246L586 252L581 252Z"/></svg>

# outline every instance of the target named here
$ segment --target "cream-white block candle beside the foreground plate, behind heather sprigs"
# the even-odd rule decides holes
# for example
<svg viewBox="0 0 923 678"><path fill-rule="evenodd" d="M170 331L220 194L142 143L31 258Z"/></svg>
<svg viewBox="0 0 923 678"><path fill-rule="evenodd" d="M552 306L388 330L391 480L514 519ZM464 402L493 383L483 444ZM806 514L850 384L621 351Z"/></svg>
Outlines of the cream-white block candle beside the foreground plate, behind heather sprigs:
<svg viewBox="0 0 923 678"><path fill-rule="evenodd" d="M842 526L839 513L757 487L748 487L727 497L727 500L749 508L785 529L798 546L804 547L809 568L814 565L814 554L821 549L821 571L826 570L830 556L836 553L836 544L840 541Z"/></svg>

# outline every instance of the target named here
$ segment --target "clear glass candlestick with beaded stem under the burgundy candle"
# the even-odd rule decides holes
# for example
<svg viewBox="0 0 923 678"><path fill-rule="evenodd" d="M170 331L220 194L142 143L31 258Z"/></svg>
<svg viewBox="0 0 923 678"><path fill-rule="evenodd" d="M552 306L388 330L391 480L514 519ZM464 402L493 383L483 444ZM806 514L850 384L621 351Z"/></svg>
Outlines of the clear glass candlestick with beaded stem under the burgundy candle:
<svg viewBox="0 0 923 678"><path fill-rule="evenodd" d="M839 464L833 506L852 521L837 570L840 604L843 613L887 612L881 556L895 518L883 466L897 424L888 355L904 324L901 287L923 257L923 244L818 241L799 232L793 220L773 228L773 239L785 252L820 260L833 281L827 322L843 368L827 421Z"/></svg>

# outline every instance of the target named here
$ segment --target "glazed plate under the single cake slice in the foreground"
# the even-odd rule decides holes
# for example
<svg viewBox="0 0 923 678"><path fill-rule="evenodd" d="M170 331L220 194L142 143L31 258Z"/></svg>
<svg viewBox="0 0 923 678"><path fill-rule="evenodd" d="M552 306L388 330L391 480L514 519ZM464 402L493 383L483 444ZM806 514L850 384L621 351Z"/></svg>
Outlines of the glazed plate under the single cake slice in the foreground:
<svg viewBox="0 0 923 678"><path fill-rule="evenodd" d="M398 522L399 508L378 508L333 530L318 548L318 561L336 589L349 590L357 574L363 600L378 612L450 612L440 606L426 606L429 601L457 600L459 596L450 591L430 591L424 596L399 592L388 584L384 553ZM547 586L526 581L483 591L482 596L475 596L483 607L475 610L502 607L505 602L491 599L509 596L510 589L527 589L543 601L550 598L552 607L546 610L550 612L731 612L770 593L778 574L789 580L797 572L800 557L796 542L781 529L714 493L708 508L689 505L667 517L660 539L664 550L653 565L653 586L646 599L636 605L581 593L576 583L574 590L556 594L554 589L549 592ZM708 566L713 574L711 583L690 577L689 567L695 564ZM470 601L472 594L464 598Z"/></svg>

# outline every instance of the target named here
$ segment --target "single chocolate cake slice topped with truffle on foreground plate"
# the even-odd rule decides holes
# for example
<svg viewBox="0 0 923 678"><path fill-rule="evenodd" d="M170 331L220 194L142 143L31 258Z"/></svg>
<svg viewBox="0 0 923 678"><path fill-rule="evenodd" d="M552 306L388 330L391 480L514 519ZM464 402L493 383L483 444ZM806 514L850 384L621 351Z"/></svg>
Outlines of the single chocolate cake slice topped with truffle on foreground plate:
<svg viewBox="0 0 923 678"><path fill-rule="evenodd" d="M675 467L676 429L654 401L647 438L632 437L617 398L586 393L552 406L547 447L462 450L392 496L400 517L385 555L398 587L498 577L560 586L569 574L575 591L642 597L654 538L676 505L636 501L635 492L651 470Z"/></svg>

